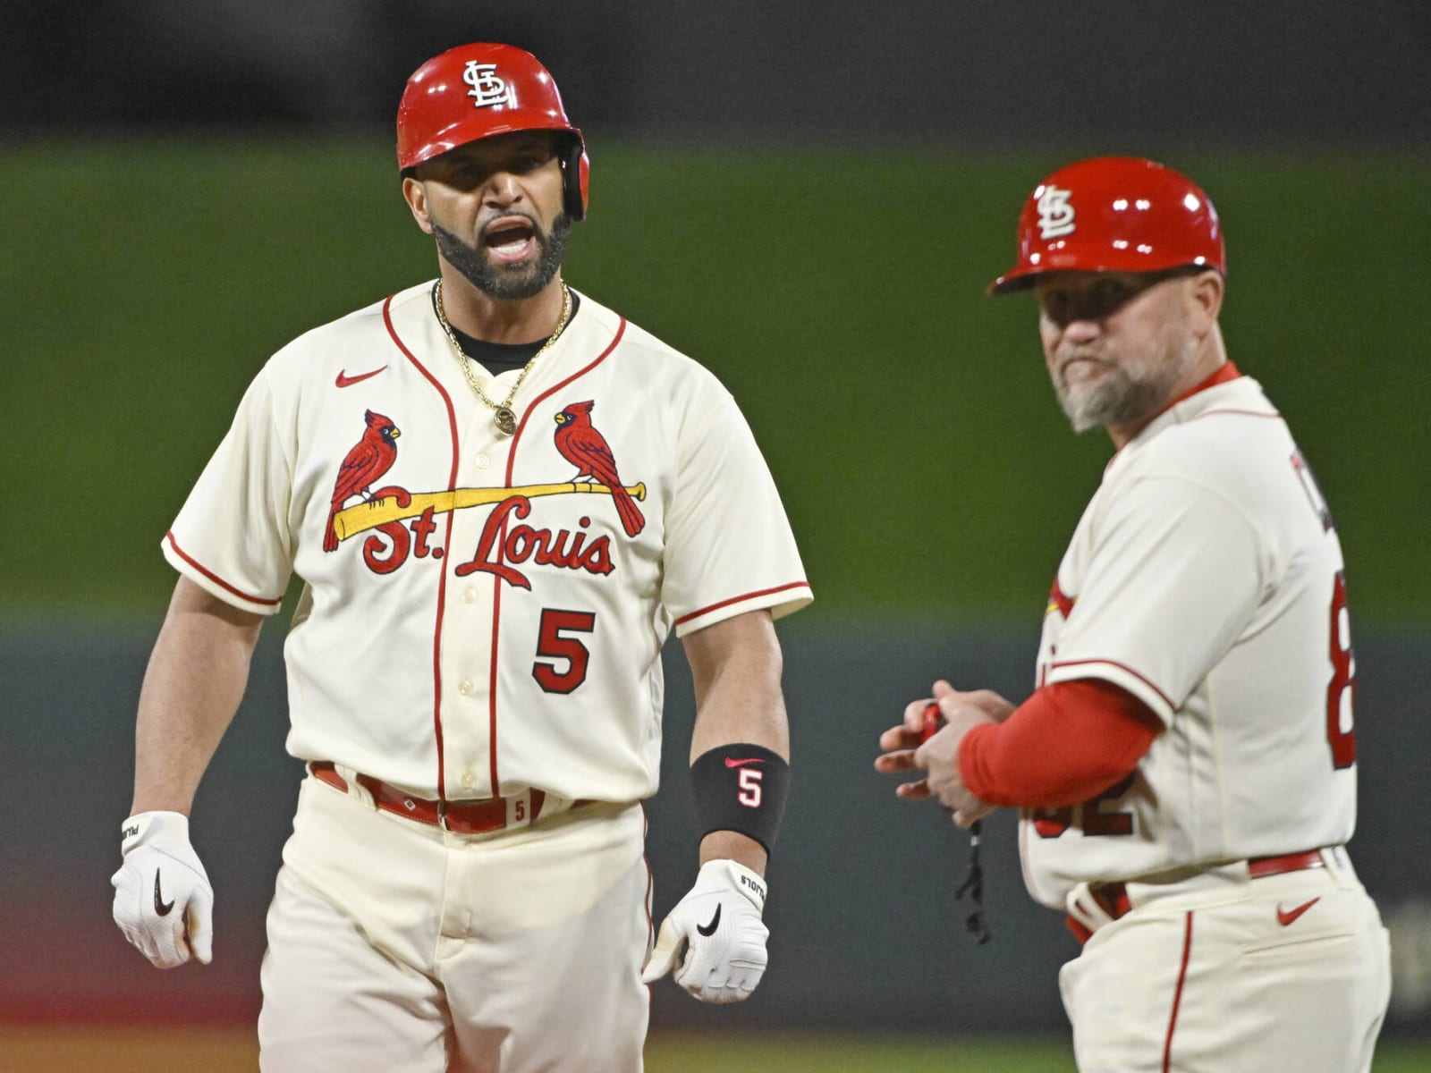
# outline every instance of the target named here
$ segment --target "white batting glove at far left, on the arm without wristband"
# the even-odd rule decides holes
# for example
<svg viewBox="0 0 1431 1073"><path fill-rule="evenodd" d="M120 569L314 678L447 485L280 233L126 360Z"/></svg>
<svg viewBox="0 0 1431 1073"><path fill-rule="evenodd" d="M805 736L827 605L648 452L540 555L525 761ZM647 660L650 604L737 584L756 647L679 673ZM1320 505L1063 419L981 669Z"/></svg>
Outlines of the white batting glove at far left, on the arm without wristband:
<svg viewBox="0 0 1431 1073"><path fill-rule="evenodd" d="M139 813L124 820L124 863L114 884L114 923L160 969L190 957L213 960L213 887L189 844L183 813Z"/></svg>

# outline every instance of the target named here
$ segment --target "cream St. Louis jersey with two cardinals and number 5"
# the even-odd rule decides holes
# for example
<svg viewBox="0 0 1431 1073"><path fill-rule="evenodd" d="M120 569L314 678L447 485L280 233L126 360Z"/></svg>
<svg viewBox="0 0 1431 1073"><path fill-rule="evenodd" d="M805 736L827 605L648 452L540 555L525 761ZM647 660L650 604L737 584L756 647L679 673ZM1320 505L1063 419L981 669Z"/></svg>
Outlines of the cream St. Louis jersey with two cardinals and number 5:
<svg viewBox="0 0 1431 1073"><path fill-rule="evenodd" d="M504 436L432 285L404 290L265 365L165 555L260 614L305 581L295 757L424 797L648 797L663 642L810 602L790 525L730 393L590 298L512 409Z"/></svg>

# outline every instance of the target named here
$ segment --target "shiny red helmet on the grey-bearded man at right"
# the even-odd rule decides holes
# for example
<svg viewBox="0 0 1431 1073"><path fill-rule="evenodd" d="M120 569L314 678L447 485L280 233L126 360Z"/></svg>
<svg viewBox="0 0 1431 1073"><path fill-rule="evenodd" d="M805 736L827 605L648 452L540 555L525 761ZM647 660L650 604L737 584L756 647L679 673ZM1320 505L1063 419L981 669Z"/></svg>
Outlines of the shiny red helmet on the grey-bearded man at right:
<svg viewBox="0 0 1431 1073"><path fill-rule="evenodd" d="M1202 265L1226 275L1222 225L1196 183L1153 160L1099 156L1039 183L1019 215L1019 260L989 285L1006 295L1045 272L1158 272Z"/></svg>

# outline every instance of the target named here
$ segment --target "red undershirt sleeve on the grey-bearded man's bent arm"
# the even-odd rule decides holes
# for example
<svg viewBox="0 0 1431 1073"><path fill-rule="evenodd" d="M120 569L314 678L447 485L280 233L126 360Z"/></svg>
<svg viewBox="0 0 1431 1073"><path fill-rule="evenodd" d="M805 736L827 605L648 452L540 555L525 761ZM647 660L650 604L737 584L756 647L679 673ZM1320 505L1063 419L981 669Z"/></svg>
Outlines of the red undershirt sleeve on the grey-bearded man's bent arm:
<svg viewBox="0 0 1431 1073"><path fill-rule="evenodd" d="M1003 722L969 731L959 775L993 805L1078 804L1130 774L1162 730L1152 708L1112 682L1055 682Z"/></svg>

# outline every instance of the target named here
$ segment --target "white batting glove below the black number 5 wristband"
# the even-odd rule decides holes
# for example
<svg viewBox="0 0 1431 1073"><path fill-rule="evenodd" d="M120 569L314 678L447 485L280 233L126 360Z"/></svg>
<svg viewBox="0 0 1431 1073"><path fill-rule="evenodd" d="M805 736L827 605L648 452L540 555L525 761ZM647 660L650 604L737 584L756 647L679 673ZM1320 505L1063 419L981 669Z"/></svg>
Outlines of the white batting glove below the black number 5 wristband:
<svg viewBox="0 0 1431 1073"><path fill-rule="evenodd" d="M674 966L671 979L704 1003L746 999L766 973L764 908L760 876L731 860L707 861L661 923L641 983L660 980Z"/></svg>

